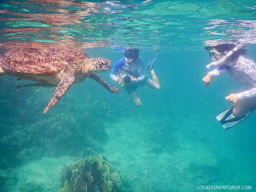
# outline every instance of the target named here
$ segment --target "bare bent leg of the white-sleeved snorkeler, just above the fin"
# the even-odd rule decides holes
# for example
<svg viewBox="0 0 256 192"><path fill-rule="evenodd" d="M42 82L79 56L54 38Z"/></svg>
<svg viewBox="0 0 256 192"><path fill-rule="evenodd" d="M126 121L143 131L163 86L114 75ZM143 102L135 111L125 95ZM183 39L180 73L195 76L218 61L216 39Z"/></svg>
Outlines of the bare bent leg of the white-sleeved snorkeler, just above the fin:
<svg viewBox="0 0 256 192"><path fill-rule="evenodd" d="M256 96L238 100L233 108L233 115L240 117L256 107Z"/></svg>

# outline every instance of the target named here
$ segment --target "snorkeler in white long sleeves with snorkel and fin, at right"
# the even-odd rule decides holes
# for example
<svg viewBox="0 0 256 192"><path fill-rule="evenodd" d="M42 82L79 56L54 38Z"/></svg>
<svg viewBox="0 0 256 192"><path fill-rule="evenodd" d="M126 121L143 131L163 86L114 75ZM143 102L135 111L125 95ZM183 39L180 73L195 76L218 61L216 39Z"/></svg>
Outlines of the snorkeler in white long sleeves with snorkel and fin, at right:
<svg viewBox="0 0 256 192"><path fill-rule="evenodd" d="M256 108L256 64L245 58L244 44L222 44L206 47L213 62L207 65L218 65L203 78L208 86L212 77L227 71L235 81L244 85L244 91L226 96L226 100L235 103L216 116L223 128L228 129L244 120Z"/></svg>

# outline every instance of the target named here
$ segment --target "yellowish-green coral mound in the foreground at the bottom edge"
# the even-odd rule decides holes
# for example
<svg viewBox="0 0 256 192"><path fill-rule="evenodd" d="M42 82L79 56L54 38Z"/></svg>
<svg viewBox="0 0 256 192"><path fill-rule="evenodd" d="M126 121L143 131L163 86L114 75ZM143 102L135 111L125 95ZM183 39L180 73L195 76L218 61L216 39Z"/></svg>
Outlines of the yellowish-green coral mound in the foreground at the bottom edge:
<svg viewBox="0 0 256 192"><path fill-rule="evenodd" d="M120 187L120 176L97 156L79 159L60 173L60 192L119 192Z"/></svg>

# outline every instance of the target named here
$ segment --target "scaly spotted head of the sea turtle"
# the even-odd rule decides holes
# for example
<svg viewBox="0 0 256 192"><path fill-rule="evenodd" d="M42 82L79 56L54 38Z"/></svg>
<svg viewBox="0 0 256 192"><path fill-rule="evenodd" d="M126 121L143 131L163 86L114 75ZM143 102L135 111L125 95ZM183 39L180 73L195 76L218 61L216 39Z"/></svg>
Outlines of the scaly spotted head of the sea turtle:
<svg viewBox="0 0 256 192"><path fill-rule="evenodd" d="M88 71L103 72L109 69L110 69L110 60L103 57L87 59L83 63L84 73L87 73Z"/></svg>

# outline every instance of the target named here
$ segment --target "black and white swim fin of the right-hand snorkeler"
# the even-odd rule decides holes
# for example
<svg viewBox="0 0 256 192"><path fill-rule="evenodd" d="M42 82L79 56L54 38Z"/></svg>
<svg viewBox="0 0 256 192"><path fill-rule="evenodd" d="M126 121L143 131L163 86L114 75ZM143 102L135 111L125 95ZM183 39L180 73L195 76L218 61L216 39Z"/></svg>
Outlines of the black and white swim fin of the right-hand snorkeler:
<svg viewBox="0 0 256 192"><path fill-rule="evenodd" d="M248 117L254 110L250 110L241 117L235 117L233 115L233 108L234 105L224 109L222 112L220 112L217 116L216 119L222 124L222 127L224 129L230 129L231 127L237 125L241 121L243 121L246 117Z"/></svg>

